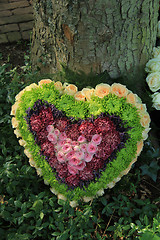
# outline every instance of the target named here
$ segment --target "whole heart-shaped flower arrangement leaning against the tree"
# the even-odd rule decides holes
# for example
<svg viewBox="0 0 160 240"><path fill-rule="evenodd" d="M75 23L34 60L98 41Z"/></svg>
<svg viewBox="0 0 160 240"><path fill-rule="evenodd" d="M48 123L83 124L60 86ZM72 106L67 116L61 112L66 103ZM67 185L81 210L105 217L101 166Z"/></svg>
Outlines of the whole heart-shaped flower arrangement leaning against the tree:
<svg viewBox="0 0 160 240"><path fill-rule="evenodd" d="M78 91L43 79L16 96L11 115L30 165L71 206L127 174L150 130L145 104L117 83Z"/></svg>

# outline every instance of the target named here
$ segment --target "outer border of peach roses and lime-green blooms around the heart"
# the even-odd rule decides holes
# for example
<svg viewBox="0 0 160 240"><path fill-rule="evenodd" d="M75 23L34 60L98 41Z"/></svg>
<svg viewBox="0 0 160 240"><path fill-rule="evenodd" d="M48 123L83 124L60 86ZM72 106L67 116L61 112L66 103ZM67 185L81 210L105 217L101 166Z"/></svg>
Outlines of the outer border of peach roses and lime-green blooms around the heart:
<svg viewBox="0 0 160 240"><path fill-rule="evenodd" d="M25 111L29 107L32 108L35 101L38 99L42 99L44 101L47 100L50 103L52 102L57 104L58 108L63 111L65 111L65 107L67 107L64 104L66 101L69 101L69 103L72 104L74 102L76 106L82 108L81 114L85 112L85 108L87 106L90 109L89 113L93 115L98 115L99 111L102 112L101 108L105 108L105 101L108 99L111 99L111 103L114 101L116 103L123 103L123 107L132 107L134 114L136 109L139 124L136 122L135 125L137 125L138 135L141 135L141 137L137 137L136 141L135 137L133 137L132 130L130 131L132 140L134 139L134 142L136 141L136 146L135 144L133 145L133 143L131 144L130 141L126 143L126 149L122 149L117 154L116 163L113 161L107 168L109 169L112 167L112 177L110 176L109 179L107 178L106 172L108 170L106 169L107 171L105 170L103 172L100 179L96 183L90 183L87 189L82 190L77 188L76 191L66 191L66 186L64 187L62 184L59 186L59 183L57 184L55 176L52 176L52 179L49 179L48 176L52 173L51 167L47 166L49 164L46 162L44 157L39 155L37 156L40 149L37 145L34 145L34 138L27 131L28 126L24 119L24 116L26 115ZM61 101L59 101L60 99ZM84 102L87 105L84 105ZM93 112L93 109L95 112ZM118 113L117 104L115 106L110 106L108 110L110 110L112 113ZM121 84L112 84L112 86L109 86L108 84L99 84L95 89L84 88L82 91L78 92L77 87L73 84L62 85L61 82L54 82L50 79L41 80L38 85L35 83L29 85L16 96L16 102L12 106L11 115L15 116L12 118L12 126L15 128L14 133L16 134L17 138L21 138L19 139L19 143L25 148L24 153L29 158L30 165L36 168L38 175L43 175L45 183L51 185L51 191L56 194L59 199L66 200L69 198L72 200L70 201L71 206L76 206L79 198L83 199L85 202L88 202L94 197L103 195L104 189L112 188L123 175L127 174L131 169L132 164L137 160L137 157L142 151L143 141L148 137L148 132L150 130L150 118L146 111L146 106L141 103L141 100L136 94L128 91L127 88ZM132 124L134 125L133 121ZM135 127L132 124L129 125L128 123L128 126ZM127 161L124 161L123 159L127 152L124 152L124 150L128 151L127 154L129 154L131 150L131 152L133 152L133 154L128 155L129 160L127 159ZM122 159L123 161L121 162ZM118 163L119 168L117 169L116 165ZM120 163L122 166L120 166ZM42 166L42 169L40 166ZM59 189L60 191L58 191Z"/></svg>

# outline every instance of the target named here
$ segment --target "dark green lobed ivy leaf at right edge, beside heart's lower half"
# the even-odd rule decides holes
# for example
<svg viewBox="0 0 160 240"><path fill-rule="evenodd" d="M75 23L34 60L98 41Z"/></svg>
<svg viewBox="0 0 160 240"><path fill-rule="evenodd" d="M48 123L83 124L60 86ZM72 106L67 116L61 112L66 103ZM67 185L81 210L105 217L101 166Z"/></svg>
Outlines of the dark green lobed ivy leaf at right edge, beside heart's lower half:
<svg viewBox="0 0 160 240"><path fill-rule="evenodd" d="M157 161L153 160L150 165L144 164L140 167L142 170L142 175L148 175L153 179L154 182L157 180L157 173L160 169L160 166L158 165Z"/></svg>

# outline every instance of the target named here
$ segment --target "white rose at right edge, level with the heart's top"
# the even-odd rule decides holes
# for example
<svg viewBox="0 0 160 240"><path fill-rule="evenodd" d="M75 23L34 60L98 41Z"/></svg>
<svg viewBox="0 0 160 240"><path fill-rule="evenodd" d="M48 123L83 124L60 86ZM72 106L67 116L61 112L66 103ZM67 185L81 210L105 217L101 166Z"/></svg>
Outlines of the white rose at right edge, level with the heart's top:
<svg viewBox="0 0 160 240"><path fill-rule="evenodd" d="M150 73L147 78L146 82L152 92L156 92L160 89L160 72L153 72Z"/></svg>

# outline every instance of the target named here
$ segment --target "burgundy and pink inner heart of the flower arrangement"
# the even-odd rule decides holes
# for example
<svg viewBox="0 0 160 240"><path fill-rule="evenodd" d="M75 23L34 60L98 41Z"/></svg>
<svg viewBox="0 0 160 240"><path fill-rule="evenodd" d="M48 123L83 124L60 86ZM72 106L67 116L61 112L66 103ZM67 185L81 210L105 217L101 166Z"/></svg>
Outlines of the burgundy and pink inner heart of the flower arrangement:
<svg viewBox="0 0 160 240"><path fill-rule="evenodd" d="M58 180L69 187L87 185L105 170L122 133L105 114L73 121L60 112L53 105L39 104L28 111L30 130Z"/></svg>

